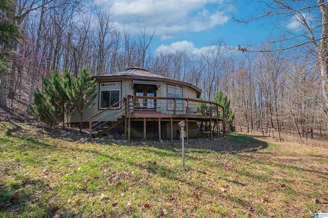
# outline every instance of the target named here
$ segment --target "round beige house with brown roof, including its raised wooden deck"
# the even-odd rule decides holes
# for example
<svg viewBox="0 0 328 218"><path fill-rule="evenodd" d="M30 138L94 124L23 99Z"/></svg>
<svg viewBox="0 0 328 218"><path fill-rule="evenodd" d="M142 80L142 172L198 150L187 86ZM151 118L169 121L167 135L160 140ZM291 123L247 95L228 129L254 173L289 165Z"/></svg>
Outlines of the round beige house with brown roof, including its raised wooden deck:
<svg viewBox="0 0 328 218"><path fill-rule="evenodd" d="M98 84L94 104L85 110L84 121L89 135L116 131L131 138L144 140L179 138L178 123L186 123L187 141L197 136L197 122L206 122L211 139L220 126L224 135L223 107L214 102L197 100L201 90L196 86L152 74L139 67L94 77ZM78 113L69 118L79 123ZM211 127L211 128L210 128ZM208 131L207 130L207 131Z"/></svg>

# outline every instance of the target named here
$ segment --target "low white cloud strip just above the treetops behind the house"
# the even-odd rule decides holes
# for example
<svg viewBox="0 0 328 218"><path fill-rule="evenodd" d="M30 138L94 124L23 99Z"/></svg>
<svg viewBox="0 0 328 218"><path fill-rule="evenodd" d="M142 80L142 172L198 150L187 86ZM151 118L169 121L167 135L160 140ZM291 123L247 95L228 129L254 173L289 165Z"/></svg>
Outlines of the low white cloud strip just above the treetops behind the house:
<svg viewBox="0 0 328 218"><path fill-rule="evenodd" d="M233 47L232 47L233 48ZM177 52L187 52L188 54L201 56L206 55L207 53L218 52L220 50L221 54L224 56L235 54L236 50L228 49L225 46L217 46L217 45L210 45L204 46L200 49L197 49L194 46L194 43L189 41L177 41L173 42L170 45L160 45L157 47L155 54L169 54L169 53L177 53Z"/></svg>

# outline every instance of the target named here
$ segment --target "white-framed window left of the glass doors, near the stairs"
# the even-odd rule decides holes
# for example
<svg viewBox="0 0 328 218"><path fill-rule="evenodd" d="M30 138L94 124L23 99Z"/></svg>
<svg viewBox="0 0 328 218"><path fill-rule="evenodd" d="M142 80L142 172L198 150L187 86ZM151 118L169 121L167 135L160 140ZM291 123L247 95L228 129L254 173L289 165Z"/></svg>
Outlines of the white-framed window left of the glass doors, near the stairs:
<svg viewBox="0 0 328 218"><path fill-rule="evenodd" d="M105 109L121 98L121 82L100 83L99 88L99 109Z"/></svg>

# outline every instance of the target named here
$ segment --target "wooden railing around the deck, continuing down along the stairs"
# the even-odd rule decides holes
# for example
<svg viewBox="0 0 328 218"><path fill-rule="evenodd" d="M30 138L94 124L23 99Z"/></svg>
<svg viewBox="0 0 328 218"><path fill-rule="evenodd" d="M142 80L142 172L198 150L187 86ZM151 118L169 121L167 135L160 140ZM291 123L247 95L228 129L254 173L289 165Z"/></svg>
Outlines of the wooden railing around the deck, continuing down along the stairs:
<svg viewBox="0 0 328 218"><path fill-rule="evenodd" d="M170 98L128 95L114 105L89 117L84 122L89 122L89 136L93 130L105 126L108 122L116 121L118 118L125 118L125 129L130 126L130 118L137 114L168 114L170 117L185 117L196 119L220 119L224 123L224 108L220 104L209 101L201 101L189 98ZM154 114L153 117L156 117ZM160 117L160 116L159 116ZM129 118L129 124L127 123ZM172 122L172 119L171 119ZM217 122L218 125L218 122ZM223 128L224 135L224 128Z"/></svg>

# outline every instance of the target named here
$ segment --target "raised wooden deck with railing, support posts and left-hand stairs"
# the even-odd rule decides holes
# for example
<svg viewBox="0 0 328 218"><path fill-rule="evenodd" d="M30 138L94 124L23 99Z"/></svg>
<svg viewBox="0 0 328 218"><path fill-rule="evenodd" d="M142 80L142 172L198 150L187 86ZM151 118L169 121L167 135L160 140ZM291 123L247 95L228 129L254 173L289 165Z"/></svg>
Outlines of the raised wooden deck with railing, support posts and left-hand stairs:
<svg viewBox="0 0 328 218"><path fill-rule="evenodd" d="M147 122L157 121L159 141L161 141L161 122L170 122L170 137L171 142L173 142L173 123L184 120L186 123L185 131L187 133L188 142L188 122L209 122L211 140L213 138L214 127L216 127L217 136L219 137L221 123L224 136L225 129L223 114L223 106L215 102L200 101L189 98L128 95L127 98L122 99L85 121L89 122L89 136L91 137L92 133L105 134L124 120L125 136L129 141L131 139L131 122L144 122L143 138L145 140ZM116 118L115 120L103 120L102 117ZM104 126L103 130L94 131L93 127L99 127L95 127L99 123ZM108 125L109 123L110 125ZM105 125L107 126L105 127Z"/></svg>

